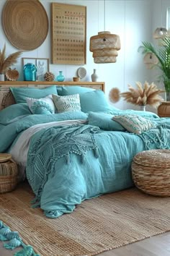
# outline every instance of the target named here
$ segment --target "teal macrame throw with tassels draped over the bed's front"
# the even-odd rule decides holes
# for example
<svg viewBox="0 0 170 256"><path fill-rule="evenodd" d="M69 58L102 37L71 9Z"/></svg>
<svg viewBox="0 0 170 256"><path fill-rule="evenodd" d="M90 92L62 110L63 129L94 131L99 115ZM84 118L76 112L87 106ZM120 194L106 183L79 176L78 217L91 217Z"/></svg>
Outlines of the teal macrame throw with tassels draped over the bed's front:
<svg viewBox="0 0 170 256"><path fill-rule="evenodd" d="M94 140L94 133L97 132L99 127L83 124L51 127L41 131L38 139L31 143L27 158L27 179L35 188L36 195L32 200L32 203L35 203L33 208L40 207L42 189L48 178L54 176L55 163L58 159L65 158L69 164L70 155L76 154L80 156L83 164L89 150L94 150L94 157L98 158L99 152ZM35 168L32 168L32 164Z"/></svg>

